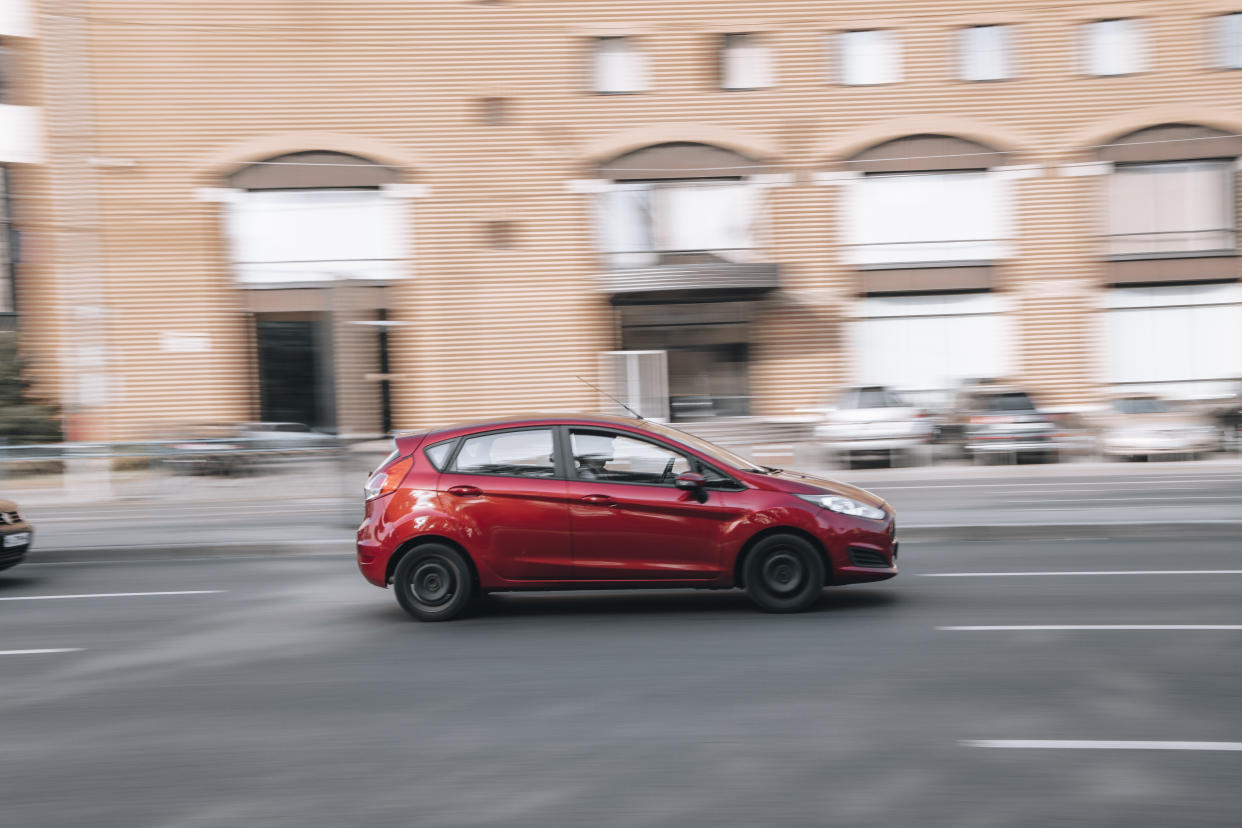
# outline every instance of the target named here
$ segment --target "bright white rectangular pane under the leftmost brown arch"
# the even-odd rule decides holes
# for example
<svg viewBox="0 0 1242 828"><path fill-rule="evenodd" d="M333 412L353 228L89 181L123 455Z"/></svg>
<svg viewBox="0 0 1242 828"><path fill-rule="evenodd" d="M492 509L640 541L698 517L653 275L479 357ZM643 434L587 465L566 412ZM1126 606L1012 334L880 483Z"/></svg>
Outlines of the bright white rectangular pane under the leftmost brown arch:
<svg viewBox="0 0 1242 828"><path fill-rule="evenodd" d="M405 274L404 201L379 190L257 190L229 204L241 282L386 279Z"/></svg>

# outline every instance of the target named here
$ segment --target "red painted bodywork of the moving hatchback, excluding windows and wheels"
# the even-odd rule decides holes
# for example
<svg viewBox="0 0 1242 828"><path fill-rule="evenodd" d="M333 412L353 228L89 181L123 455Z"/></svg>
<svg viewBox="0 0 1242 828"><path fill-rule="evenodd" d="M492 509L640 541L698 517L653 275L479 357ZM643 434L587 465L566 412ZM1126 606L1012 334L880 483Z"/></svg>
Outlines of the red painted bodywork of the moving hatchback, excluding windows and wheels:
<svg viewBox="0 0 1242 828"><path fill-rule="evenodd" d="M465 473L448 464L463 438L524 430L555 434L554 453L566 457L549 457L549 463L556 461L549 475ZM655 444L653 452L676 452L708 472L712 484L687 490L672 479L661 484L582 479L568 462L576 453L566 451L571 430L574 439L599 432L604 438ZM760 469L689 434L637 418L529 417L399 436L376 479L386 480L380 484L385 490L366 502L358 528L358 566L379 587L392 583L402 555L435 542L468 557L474 588L482 592L728 588L739 586L746 551L774 533L800 536L818 550L825 585L897 575L895 524L883 499L846 483ZM840 514L800 494L840 495L879 509L883 516Z"/></svg>

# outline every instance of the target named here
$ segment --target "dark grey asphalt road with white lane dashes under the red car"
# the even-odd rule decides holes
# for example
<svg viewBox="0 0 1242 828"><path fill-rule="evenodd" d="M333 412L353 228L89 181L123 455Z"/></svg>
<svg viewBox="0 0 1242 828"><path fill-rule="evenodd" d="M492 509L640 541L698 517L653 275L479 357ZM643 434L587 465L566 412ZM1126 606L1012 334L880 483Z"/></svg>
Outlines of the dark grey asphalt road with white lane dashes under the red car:
<svg viewBox="0 0 1242 828"><path fill-rule="evenodd" d="M799 616L510 595L419 624L335 551L26 564L0 575L0 652L67 652L0 654L0 822L1238 823L1236 540L905 544L902 566ZM990 628L1049 624L1110 628Z"/></svg>

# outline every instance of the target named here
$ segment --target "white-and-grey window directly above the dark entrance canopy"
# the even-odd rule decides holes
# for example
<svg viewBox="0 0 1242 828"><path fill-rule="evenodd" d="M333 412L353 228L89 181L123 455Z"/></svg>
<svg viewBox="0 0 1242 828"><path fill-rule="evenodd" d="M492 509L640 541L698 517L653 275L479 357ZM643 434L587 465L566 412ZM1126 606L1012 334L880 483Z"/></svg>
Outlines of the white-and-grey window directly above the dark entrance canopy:
<svg viewBox="0 0 1242 828"><path fill-rule="evenodd" d="M601 194L600 243L615 267L684 261L688 253L748 261L755 190L745 181L623 182Z"/></svg>

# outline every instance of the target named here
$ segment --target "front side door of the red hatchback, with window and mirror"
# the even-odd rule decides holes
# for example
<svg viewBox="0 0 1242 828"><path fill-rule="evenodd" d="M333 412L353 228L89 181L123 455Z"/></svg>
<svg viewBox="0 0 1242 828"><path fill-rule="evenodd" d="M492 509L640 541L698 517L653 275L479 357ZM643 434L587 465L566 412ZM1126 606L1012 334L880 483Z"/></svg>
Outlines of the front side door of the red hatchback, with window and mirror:
<svg viewBox="0 0 1242 828"><path fill-rule="evenodd" d="M720 538L739 510L727 493L705 502L673 482L697 463L655 441L568 427L574 576L590 581L708 581L720 575ZM717 473L718 474L718 473Z"/></svg>

